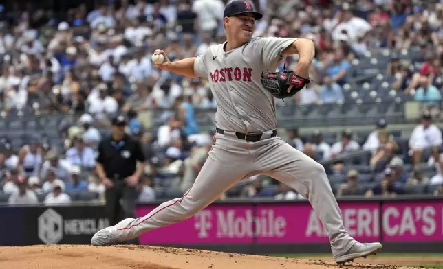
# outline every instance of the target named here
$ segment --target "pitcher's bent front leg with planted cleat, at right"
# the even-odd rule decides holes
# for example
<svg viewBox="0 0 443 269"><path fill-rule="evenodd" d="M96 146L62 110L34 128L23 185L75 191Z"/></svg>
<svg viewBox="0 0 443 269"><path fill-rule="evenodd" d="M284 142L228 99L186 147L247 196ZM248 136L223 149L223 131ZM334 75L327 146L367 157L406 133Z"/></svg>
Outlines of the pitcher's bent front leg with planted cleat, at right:
<svg viewBox="0 0 443 269"><path fill-rule="evenodd" d="M309 200L325 226L336 262L343 263L380 250L380 243L360 244L347 233L323 165L278 137L259 151L256 168L263 171L262 174L281 181Z"/></svg>

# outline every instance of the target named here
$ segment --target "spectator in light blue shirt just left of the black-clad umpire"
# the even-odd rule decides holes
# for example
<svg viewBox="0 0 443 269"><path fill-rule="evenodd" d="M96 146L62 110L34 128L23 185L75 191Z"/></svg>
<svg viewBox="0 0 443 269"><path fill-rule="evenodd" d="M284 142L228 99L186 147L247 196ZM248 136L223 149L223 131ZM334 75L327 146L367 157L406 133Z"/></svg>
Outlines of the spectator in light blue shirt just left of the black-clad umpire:
<svg viewBox="0 0 443 269"><path fill-rule="evenodd" d="M77 134L74 138L74 147L66 152L66 160L71 166L93 169L96 165L96 155L92 148L83 142L83 135Z"/></svg>

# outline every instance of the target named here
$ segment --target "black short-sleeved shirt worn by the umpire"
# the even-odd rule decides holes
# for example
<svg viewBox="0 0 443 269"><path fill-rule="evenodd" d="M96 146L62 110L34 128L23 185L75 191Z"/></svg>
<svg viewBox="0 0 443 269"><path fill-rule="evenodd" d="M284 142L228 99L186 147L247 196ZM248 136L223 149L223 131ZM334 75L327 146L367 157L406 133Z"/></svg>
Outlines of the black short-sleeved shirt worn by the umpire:
<svg viewBox="0 0 443 269"><path fill-rule="evenodd" d="M124 180L133 175L137 161L144 162L145 159L140 143L128 135L118 142L109 136L98 144L97 162L103 165L110 180Z"/></svg>

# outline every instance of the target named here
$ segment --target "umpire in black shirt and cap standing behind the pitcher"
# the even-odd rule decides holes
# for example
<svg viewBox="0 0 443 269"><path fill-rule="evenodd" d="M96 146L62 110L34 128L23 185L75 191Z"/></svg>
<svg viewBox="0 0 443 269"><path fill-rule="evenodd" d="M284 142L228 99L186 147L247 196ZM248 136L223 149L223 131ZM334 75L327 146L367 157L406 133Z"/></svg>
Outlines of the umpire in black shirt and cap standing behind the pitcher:
<svg viewBox="0 0 443 269"><path fill-rule="evenodd" d="M125 218L137 218L138 180L146 166L142 146L125 132L127 120L112 119L112 133L98 145L96 170L106 187L106 210L109 224ZM138 165L137 165L138 164Z"/></svg>

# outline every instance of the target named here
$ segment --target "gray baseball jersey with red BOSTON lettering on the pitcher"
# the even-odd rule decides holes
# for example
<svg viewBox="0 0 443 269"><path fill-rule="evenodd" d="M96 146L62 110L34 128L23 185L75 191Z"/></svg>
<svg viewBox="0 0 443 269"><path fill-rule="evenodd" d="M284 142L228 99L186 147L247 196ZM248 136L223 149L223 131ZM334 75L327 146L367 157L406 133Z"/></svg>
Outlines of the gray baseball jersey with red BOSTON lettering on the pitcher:
<svg viewBox="0 0 443 269"><path fill-rule="evenodd" d="M225 52L212 45L194 62L194 72L210 83L215 100L217 127L242 133L277 128L274 97L261 86L261 72L275 71L281 52L296 38L254 37Z"/></svg>

